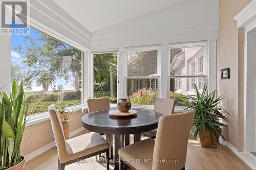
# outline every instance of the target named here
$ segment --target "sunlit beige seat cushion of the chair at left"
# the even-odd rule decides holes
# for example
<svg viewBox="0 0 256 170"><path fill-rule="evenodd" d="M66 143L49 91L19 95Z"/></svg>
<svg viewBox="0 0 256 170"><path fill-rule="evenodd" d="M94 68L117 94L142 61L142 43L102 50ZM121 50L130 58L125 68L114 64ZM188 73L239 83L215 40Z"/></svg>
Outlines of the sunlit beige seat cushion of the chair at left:
<svg viewBox="0 0 256 170"><path fill-rule="evenodd" d="M66 140L67 160L73 160L109 148L109 143L99 134L90 132Z"/></svg>

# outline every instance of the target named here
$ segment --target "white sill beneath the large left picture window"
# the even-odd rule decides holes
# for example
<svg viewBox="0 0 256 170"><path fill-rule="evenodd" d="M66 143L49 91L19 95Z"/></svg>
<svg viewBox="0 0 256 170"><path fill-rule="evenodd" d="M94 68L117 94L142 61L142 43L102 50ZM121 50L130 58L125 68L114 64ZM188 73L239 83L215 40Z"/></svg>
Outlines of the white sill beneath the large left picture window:
<svg viewBox="0 0 256 170"><path fill-rule="evenodd" d="M80 110L82 111L83 109L87 109L87 106L81 104L81 105L67 107L66 109L73 112L77 112ZM46 120L49 120L49 119L50 119L50 115L48 112L30 115L27 117L28 122L26 123L26 127L35 125L37 123L45 122Z"/></svg>

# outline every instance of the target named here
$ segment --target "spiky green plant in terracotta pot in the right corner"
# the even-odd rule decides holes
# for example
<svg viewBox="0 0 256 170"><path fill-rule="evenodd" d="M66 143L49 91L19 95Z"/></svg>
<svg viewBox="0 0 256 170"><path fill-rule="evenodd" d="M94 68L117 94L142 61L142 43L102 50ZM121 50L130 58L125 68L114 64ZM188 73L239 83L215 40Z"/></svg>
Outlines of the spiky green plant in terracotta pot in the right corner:
<svg viewBox="0 0 256 170"><path fill-rule="evenodd" d="M193 121L194 137L200 140L202 147L216 148L219 143L219 137L222 136L222 126L227 126L220 122L221 119L228 121L227 118L220 112L221 110L229 114L224 108L219 106L222 96L216 97L216 90L208 94L207 84L203 86L202 92L199 92L196 84L193 84L195 94L187 95L186 98L190 101L189 105L184 109L196 110ZM225 140L225 138L222 136Z"/></svg>

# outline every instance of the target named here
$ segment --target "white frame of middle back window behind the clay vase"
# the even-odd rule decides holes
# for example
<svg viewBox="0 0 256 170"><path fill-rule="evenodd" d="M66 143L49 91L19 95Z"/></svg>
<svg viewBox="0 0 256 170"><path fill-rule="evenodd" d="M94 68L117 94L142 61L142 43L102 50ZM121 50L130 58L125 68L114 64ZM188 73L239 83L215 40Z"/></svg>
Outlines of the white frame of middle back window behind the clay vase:
<svg viewBox="0 0 256 170"><path fill-rule="evenodd" d="M127 76L128 75L128 55L129 52L143 52L143 51L155 51L157 50L157 76ZM152 79L156 78L157 80L157 91L158 91L158 98L160 97L160 81L161 81L161 63L160 63L160 45L148 45L148 46L139 46L139 47L126 47L124 48L124 61L123 65L123 97L126 98L127 95L127 79ZM119 68L121 68L119 67ZM154 108L153 105L132 105L133 108Z"/></svg>

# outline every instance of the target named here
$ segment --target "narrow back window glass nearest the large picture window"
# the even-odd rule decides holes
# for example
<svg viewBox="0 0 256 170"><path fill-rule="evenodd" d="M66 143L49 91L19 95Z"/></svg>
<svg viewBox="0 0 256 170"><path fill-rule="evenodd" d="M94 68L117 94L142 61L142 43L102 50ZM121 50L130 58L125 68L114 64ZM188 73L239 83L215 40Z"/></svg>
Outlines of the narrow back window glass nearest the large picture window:
<svg viewBox="0 0 256 170"><path fill-rule="evenodd" d="M116 103L117 53L94 54L93 64L94 97L110 98L110 103Z"/></svg>

